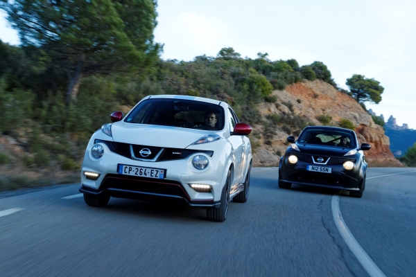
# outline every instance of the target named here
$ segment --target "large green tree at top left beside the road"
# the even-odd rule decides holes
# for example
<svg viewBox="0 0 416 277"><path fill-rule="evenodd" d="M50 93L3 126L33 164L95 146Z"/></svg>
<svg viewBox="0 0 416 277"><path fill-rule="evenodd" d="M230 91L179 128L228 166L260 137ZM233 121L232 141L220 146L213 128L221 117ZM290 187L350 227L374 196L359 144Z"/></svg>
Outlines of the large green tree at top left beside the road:
<svg viewBox="0 0 416 277"><path fill-rule="evenodd" d="M68 77L67 104L94 73L143 68L157 60L153 0L3 0L24 46L42 48Z"/></svg>

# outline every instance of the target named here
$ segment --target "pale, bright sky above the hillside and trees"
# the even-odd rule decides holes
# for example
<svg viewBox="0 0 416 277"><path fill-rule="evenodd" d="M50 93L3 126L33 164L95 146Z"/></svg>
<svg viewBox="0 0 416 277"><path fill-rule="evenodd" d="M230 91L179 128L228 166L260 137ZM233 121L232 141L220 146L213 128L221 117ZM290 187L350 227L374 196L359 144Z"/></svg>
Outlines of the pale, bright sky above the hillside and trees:
<svg viewBox="0 0 416 277"><path fill-rule="evenodd" d="M300 65L327 64L345 89L353 74L384 87L379 105L367 109L390 115L416 129L415 0L159 0L155 41L164 59L216 56L232 47L242 57L268 53L270 60ZM0 12L0 39L19 44L17 32Z"/></svg>

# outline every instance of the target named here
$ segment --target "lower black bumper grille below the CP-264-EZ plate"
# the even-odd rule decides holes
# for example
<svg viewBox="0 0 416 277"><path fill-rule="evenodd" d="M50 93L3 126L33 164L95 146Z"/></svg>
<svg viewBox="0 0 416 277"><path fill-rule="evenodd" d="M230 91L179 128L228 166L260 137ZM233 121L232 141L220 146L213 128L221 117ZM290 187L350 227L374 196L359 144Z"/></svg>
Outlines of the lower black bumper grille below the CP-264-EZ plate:
<svg viewBox="0 0 416 277"><path fill-rule="evenodd" d="M140 193L155 193L159 195L173 195L185 199L189 196L177 181L148 179L134 176L121 176L108 174L101 183L100 190L116 188L119 190L130 190Z"/></svg>

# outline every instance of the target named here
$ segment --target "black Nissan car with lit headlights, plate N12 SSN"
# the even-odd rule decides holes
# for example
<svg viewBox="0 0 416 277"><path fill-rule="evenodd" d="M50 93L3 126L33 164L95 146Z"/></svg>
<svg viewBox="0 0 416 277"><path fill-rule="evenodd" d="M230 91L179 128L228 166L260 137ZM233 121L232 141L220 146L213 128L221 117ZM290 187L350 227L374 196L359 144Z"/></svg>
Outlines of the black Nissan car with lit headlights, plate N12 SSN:
<svg viewBox="0 0 416 277"><path fill-rule="evenodd" d="M349 195L361 198L365 190L367 163L354 131L339 127L308 126L300 133L279 163L279 188L292 184L321 186L349 190Z"/></svg>

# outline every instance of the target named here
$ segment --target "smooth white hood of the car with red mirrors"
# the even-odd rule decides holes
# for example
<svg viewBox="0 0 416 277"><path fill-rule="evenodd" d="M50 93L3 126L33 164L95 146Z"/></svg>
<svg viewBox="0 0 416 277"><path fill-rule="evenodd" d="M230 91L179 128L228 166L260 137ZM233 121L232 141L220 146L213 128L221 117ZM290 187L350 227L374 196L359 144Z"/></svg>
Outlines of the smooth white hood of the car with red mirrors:
<svg viewBox="0 0 416 277"><path fill-rule="evenodd" d="M111 127L114 141L164 148L187 148L202 136L211 134L199 129L187 129L160 125L125 123L119 121Z"/></svg>

